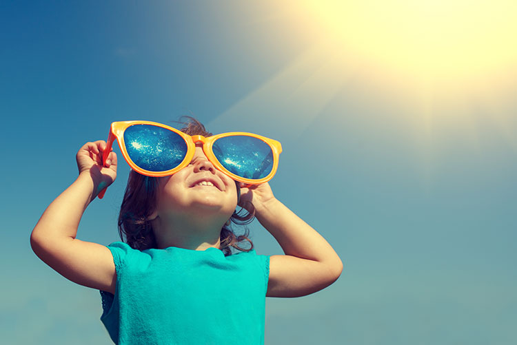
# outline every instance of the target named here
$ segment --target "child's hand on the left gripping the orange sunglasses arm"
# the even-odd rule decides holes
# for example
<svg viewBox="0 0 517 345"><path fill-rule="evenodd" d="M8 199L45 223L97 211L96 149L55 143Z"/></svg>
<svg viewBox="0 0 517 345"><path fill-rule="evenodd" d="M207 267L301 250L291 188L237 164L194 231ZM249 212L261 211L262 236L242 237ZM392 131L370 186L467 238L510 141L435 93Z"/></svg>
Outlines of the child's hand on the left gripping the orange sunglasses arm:
<svg viewBox="0 0 517 345"><path fill-rule="evenodd" d="M116 154L113 149L111 149L105 165L102 165L102 156L105 148L106 142L104 140L85 143L75 157L79 174L90 174L94 183L97 186L101 186L101 190L111 185L116 178ZM95 195L101 190L97 191Z"/></svg>

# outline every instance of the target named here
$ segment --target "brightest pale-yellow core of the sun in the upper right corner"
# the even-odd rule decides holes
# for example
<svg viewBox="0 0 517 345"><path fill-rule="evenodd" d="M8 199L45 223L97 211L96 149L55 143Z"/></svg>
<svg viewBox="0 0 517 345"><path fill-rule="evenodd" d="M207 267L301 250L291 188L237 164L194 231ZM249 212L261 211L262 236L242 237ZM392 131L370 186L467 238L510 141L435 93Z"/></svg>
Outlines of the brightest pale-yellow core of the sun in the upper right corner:
<svg viewBox="0 0 517 345"><path fill-rule="evenodd" d="M517 1L303 1L318 37L354 59L443 84L517 65ZM316 25L314 25L316 24Z"/></svg>

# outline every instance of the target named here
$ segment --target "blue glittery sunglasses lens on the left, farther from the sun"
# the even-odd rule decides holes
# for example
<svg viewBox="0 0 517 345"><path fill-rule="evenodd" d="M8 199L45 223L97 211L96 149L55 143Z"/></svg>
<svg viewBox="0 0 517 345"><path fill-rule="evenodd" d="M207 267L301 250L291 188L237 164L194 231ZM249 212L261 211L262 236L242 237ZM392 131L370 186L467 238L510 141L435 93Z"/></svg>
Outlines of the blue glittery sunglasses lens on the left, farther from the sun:
<svg viewBox="0 0 517 345"><path fill-rule="evenodd" d="M132 125L124 131L125 149L134 164L149 171L177 167L187 154L179 134L154 125Z"/></svg>

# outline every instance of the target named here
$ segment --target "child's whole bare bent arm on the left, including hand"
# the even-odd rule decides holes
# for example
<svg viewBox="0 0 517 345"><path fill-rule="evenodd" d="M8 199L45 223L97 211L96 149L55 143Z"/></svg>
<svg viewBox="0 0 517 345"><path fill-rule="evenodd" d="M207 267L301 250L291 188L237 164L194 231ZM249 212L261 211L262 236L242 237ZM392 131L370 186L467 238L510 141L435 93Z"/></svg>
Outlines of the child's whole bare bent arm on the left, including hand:
<svg viewBox="0 0 517 345"><path fill-rule="evenodd" d="M72 282L114 292L114 263L110 250L101 244L77 240L83 213L99 191L116 178L116 155L101 165L101 140L87 143L77 153L79 176L48 207L32 230L34 253ZM115 278L115 279L114 279Z"/></svg>

